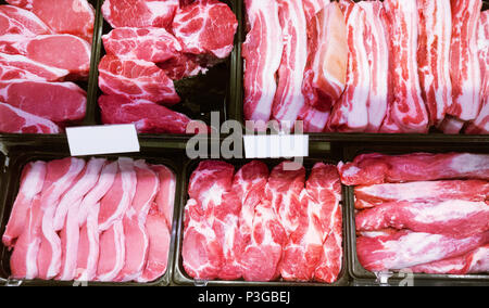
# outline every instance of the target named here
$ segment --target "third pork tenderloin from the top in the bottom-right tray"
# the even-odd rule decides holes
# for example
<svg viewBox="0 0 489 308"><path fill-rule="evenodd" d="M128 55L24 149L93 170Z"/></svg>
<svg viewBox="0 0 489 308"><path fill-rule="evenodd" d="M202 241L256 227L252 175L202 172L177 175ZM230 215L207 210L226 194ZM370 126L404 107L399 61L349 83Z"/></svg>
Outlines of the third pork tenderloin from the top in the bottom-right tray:
<svg viewBox="0 0 489 308"><path fill-rule="evenodd" d="M468 238L489 231L489 205L484 201L393 202L356 214L358 231L387 228Z"/></svg>

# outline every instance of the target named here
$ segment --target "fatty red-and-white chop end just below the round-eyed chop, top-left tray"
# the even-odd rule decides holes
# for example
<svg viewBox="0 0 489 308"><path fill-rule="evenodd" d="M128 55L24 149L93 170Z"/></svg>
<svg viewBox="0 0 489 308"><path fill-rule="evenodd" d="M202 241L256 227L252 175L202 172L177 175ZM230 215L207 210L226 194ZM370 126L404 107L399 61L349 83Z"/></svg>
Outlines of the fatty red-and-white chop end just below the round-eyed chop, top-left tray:
<svg viewBox="0 0 489 308"><path fill-rule="evenodd" d="M60 81L70 72L33 61L24 55L0 52L0 80Z"/></svg>

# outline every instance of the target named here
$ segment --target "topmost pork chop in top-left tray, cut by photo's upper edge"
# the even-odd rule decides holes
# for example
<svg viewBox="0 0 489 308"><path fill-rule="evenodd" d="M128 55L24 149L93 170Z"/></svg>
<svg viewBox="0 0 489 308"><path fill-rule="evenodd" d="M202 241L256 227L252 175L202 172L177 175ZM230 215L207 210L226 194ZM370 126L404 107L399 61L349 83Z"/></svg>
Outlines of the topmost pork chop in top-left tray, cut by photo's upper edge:
<svg viewBox="0 0 489 308"><path fill-rule="evenodd" d="M8 0L33 11L53 31L82 37L91 42L95 10L87 0Z"/></svg>

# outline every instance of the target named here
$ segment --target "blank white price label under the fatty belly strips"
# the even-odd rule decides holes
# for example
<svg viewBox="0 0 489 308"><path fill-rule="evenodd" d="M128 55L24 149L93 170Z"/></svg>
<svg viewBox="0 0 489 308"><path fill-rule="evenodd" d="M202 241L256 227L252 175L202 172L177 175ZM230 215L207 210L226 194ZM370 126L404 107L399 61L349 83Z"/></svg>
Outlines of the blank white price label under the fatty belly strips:
<svg viewBox="0 0 489 308"><path fill-rule="evenodd" d="M292 158L309 156L309 136L244 136L247 158Z"/></svg>

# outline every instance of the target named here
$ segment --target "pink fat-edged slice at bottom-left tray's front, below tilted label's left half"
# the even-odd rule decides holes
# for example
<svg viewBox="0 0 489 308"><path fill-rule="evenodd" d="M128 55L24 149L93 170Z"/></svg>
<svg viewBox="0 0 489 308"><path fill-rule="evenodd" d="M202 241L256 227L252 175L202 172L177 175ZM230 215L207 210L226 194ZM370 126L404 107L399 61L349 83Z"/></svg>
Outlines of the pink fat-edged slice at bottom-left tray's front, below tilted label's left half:
<svg viewBox="0 0 489 308"><path fill-rule="evenodd" d="M100 204L90 204L87 217L79 230L76 275L78 281L93 281L99 262L99 210ZM79 213L78 213L79 217Z"/></svg>

